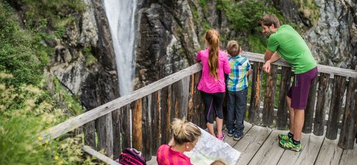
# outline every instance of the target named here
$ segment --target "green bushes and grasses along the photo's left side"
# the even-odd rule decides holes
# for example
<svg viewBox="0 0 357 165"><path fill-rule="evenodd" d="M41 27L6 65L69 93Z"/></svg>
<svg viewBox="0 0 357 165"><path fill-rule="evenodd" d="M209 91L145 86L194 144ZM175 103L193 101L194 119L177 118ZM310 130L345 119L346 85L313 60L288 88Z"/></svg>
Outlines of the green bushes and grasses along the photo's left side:
<svg viewBox="0 0 357 165"><path fill-rule="evenodd" d="M69 1L23 2L33 13L32 19L26 19L27 30L20 28L11 7L0 1L0 164L92 164L92 158L83 157L80 137L44 144L38 137L39 132L83 112L76 96L44 75L49 55L54 54L44 40L63 35L64 26L49 21L59 13L51 16L42 8L56 4L56 9L66 10L71 7L63 3Z"/></svg>

